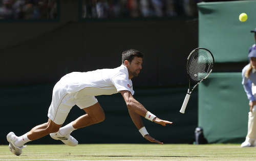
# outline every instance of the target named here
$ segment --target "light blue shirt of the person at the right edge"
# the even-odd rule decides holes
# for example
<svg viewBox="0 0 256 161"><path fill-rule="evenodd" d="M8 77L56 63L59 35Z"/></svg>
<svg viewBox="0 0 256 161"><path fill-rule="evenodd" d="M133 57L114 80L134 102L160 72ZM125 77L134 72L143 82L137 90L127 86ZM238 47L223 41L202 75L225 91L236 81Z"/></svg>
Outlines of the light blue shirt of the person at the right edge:
<svg viewBox="0 0 256 161"><path fill-rule="evenodd" d="M252 102L255 100L255 98L251 91L251 83L256 85L256 72L253 73L253 70L251 70L249 77L245 77L244 73L249 68L249 66L250 64L246 65L242 70L242 85L244 86L244 91L246 92L247 98L249 99L250 102Z"/></svg>

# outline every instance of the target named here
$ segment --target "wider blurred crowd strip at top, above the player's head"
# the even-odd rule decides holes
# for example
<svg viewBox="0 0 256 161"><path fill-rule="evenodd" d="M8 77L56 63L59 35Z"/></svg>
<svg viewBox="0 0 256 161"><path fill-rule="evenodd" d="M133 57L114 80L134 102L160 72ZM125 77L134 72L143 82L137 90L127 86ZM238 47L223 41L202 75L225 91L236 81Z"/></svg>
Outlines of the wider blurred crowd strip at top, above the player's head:
<svg viewBox="0 0 256 161"><path fill-rule="evenodd" d="M200 0L82 0L82 18L197 16Z"/></svg>

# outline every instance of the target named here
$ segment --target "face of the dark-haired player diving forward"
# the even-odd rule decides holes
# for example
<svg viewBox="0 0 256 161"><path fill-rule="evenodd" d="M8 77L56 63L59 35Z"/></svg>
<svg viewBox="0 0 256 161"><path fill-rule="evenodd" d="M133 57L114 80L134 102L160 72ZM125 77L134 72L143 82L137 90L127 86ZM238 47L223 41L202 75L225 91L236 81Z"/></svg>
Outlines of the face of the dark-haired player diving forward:
<svg viewBox="0 0 256 161"><path fill-rule="evenodd" d="M138 76L140 69L142 69L142 58L134 57L131 63L127 61L126 67L129 72L129 79Z"/></svg>

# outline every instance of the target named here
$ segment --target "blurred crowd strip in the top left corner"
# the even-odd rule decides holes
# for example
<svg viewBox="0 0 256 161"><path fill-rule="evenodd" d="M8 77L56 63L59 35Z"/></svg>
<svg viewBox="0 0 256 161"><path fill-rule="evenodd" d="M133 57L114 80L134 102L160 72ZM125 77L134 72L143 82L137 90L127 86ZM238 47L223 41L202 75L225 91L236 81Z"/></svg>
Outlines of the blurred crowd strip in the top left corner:
<svg viewBox="0 0 256 161"><path fill-rule="evenodd" d="M52 19L56 7L54 0L0 0L0 19Z"/></svg>

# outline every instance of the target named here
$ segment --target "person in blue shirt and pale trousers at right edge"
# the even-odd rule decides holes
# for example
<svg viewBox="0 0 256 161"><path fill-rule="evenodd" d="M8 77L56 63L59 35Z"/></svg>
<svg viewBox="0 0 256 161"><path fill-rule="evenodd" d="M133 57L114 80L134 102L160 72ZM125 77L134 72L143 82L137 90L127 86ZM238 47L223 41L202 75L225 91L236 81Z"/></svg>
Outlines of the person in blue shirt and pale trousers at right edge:
<svg viewBox="0 0 256 161"><path fill-rule="evenodd" d="M245 142L241 147L254 147L256 141L256 49L252 49L248 55L250 63L242 70L242 85L249 99L250 111L248 113L248 131Z"/></svg>

